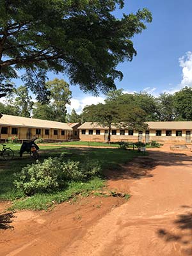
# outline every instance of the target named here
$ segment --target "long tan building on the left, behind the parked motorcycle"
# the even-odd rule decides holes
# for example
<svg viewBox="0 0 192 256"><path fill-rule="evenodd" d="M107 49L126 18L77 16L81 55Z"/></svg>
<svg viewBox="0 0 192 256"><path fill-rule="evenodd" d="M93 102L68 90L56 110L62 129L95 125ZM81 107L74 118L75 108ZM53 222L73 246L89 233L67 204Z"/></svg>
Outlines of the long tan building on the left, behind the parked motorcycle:
<svg viewBox="0 0 192 256"><path fill-rule="evenodd" d="M17 136L19 140L43 138L44 140L70 140L72 127L61 122L3 115L0 118L0 140Z"/></svg>

